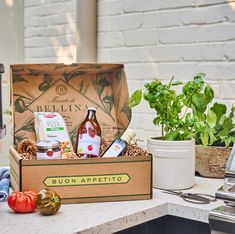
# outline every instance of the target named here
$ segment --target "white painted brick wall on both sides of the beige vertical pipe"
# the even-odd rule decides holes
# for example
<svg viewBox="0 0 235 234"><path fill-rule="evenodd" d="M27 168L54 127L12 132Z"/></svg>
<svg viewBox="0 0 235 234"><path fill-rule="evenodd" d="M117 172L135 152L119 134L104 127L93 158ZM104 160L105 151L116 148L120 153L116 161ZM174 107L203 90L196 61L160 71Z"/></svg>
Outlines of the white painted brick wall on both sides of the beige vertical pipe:
<svg viewBox="0 0 235 234"><path fill-rule="evenodd" d="M24 5L25 62L75 62L76 0ZM235 102L234 0L97 0L97 6L98 62L124 63L130 93L155 78L205 72L216 100ZM159 134L153 117L146 103L134 109L139 138Z"/></svg>

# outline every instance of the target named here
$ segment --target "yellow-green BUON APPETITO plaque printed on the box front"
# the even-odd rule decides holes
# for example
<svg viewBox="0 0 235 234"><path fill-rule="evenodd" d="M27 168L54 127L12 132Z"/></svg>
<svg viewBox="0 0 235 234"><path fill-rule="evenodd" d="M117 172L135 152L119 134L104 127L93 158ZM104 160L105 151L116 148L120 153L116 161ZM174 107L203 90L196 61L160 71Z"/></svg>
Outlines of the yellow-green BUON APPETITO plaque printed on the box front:
<svg viewBox="0 0 235 234"><path fill-rule="evenodd" d="M131 177L127 173L107 175L79 175L46 177L43 183L47 187L127 184Z"/></svg>

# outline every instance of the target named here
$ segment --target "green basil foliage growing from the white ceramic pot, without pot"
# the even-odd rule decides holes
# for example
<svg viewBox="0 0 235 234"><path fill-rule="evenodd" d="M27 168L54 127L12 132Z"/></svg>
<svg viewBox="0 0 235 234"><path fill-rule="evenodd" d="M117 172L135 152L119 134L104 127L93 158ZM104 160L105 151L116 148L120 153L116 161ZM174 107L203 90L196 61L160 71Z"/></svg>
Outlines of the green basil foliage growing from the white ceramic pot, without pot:
<svg viewBox="0 0 235 234"><path fill-rule="evenodd" d="M189 140L196 134L195 121L203 121L204 112L214 98L213 89L204 82L204 73L194 76L193 80L183 84L174 81L168 84L160 80L145 84L145 90L136 90L129 99L129 106L141 102L142 96L156 111L153 123L161 126L162 140ZM174 86L182 85L177 94Z"/></svg>

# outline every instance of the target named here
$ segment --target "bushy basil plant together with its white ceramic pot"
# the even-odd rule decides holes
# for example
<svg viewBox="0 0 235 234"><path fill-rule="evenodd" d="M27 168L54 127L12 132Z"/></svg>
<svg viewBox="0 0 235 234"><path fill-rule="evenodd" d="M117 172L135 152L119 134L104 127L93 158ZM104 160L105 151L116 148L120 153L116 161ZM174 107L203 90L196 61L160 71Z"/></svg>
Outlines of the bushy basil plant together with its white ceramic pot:
<svg viewBox="0 0 235 234"><path fill-rule="evenodd" d="M174 81L168 84L155 80L136 90L129 106L141 102L142 96L156 111L153 123L161 126L161 136L148 139L148 150L153 155L153 186L161 189L187 189L193 186L195 174L195 117L201 118L214 97L214 91L197 74L186 82L177 94Z"/></svg>

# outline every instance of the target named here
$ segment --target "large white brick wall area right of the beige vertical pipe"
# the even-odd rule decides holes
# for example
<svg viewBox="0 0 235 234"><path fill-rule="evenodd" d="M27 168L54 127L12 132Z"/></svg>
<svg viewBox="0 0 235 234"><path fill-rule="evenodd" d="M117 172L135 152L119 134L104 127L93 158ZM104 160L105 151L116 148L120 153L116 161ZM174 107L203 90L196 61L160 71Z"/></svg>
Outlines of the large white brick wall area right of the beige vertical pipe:
<svg viewBox="0 0 235 234"><path fill-rule="evenodd" d="M130 93L205 72L216 100L235 102L234 0L99 0L97 23L98 62L124 63ZM139 138L159 134L146 103L133 110Z"/></svg>

